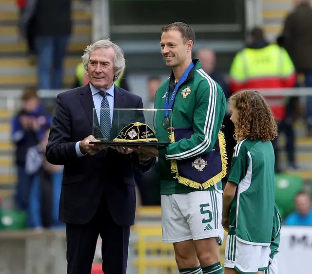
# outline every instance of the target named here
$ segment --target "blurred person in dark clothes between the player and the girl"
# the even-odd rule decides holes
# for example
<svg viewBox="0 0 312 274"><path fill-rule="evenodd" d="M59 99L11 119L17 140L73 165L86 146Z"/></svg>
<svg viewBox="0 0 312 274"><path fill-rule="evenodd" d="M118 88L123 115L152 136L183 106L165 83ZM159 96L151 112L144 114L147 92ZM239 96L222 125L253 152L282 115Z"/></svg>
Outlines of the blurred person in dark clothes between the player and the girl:
<svg viewBox="0 0 312 274"><path fill-rule="evenodd" d="M229 98L230 96L230 91L229 91L229 86L228 83L225 81L224 75L221 73L216 73L215 72L215 65L216 65L216 56L215 52L210 50L210 49L201 49L199 50L197 54L197 58L200 60L201 66L205 73L207 73L215 82L221 86L224 95L226 99ZM227 168L227 175L230 173L231 170L231 161L232 161L232 155L233 155L233 149L234 146L236 146L236 141L234 139L234 124L230 120L231 118L231 112L229 108L227 109L224 119L223 119L223 125L224 128L222 129L225 137L225 143L226 143L226 152L228 155L228 168ZM222 186L224 188L228 176L225 176L222 179Z"/></svg>

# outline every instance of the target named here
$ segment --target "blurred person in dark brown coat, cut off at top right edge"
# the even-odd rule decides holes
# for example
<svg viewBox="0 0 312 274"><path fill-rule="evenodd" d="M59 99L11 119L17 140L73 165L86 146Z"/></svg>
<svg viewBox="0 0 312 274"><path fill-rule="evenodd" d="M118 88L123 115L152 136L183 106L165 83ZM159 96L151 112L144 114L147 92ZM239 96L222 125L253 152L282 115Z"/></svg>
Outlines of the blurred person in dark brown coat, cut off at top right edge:
<svg viewBox="0 0 312 274"><path fill-rule="evenodd" d="M293 0L295 8L286 17L281 40L297 73L304 73L306 87L312 87L312 7L309 0ZM312 96L306 104L308 135L312 136Z"/></svg>

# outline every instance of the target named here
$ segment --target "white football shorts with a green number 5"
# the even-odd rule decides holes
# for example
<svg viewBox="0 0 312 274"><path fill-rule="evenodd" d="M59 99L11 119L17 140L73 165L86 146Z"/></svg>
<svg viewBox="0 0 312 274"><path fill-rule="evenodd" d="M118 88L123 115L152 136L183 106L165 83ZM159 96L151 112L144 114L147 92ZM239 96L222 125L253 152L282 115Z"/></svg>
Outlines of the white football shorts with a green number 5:
<svg viewBox="0 0 312 274"><path fill-rule="evenodd" d="M221 218L222 190L161 195L163 242L217 237L222 244Z"/></svg>

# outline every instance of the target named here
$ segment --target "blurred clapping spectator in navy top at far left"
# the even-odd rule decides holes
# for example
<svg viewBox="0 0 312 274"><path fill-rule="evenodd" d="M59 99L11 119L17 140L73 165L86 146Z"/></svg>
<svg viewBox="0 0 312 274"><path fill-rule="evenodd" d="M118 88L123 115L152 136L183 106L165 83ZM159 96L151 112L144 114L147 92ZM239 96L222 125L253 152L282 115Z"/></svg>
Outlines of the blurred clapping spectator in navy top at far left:
<svg viewBox="0 0 312 274"><path fill-rule="evenodd" d="M44 137L44 129L50 125L52 117L40 105L36 89L27 88L21 96L22 108L12 120L12 141L15 143L15 163L18 182L16 205L20 210L27 210L28 194L32 176L25 172L28 148L36 146Z"/></svg>

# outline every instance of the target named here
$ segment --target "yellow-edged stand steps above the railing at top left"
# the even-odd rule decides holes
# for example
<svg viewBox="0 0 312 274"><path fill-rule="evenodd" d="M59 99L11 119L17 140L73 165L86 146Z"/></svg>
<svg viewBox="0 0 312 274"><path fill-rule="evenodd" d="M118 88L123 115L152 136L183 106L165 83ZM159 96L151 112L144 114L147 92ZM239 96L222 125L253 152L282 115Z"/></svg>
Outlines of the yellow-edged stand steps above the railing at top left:
<svg viewBox="0 0 312 274"><path fill-rule="evenodd" d="M0 89L20 89L36 85L36 66L25 57L26 45L18 39L19 12L15 0L0 0ZM76 66L85 46L91 41L92 18L81 2L73 4L73 34L65 60L64 84L70 87L74 81Z"/></svg>

